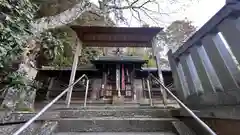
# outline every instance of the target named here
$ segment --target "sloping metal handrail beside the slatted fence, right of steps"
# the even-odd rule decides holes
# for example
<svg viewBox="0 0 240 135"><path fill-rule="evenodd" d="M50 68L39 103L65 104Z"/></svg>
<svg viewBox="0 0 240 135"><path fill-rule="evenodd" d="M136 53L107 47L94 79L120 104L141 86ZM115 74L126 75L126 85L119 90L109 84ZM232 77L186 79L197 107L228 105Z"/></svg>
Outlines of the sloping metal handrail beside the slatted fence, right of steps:
<svg viewBox="0 0 240 135"><path fill-rule="evenodd" d="M191 109L189 109L181 100L179 100L164 84L158 80L155 76L150 74L167 92L171 95L181 107L183 107L201 126L203 126L211 135L217 135L206 123L204 123L196 114L194 114Z"/></svg>

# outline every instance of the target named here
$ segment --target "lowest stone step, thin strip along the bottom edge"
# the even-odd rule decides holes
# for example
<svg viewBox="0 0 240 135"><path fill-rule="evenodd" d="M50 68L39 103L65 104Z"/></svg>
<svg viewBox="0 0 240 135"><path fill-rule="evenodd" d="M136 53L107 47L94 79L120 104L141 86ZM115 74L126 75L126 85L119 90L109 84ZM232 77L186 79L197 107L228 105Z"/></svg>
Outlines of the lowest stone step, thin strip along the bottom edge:
<svg viewBox="0 0 240 135"><path fill-rule="evenodd" d="M54 135L176 135L172 132L62 132Z"/></svg>

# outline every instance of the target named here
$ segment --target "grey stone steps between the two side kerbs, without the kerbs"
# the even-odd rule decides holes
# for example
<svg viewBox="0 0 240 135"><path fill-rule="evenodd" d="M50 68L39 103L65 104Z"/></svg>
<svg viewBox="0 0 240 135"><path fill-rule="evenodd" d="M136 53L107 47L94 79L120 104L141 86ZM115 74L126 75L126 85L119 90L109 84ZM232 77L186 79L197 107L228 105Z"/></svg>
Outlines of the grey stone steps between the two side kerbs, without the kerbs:
<svg viewBox="0 0 240 135"><path fill-rule="evenodd" d="M105 108L60 113L57 132L171 132L176 119L164 109Z"/></svg>

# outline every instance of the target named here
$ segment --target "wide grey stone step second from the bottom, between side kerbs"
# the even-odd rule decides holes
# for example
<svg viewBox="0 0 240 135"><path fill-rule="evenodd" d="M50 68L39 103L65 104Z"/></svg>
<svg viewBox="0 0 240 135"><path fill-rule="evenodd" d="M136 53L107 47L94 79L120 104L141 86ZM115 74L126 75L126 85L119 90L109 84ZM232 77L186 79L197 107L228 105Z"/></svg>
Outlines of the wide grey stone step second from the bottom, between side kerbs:
<svg viewBox="0 0 240 135"><path fill-rule="evenodd" d="M173 131L174 118L64 118L57 132L160 132Z"/></svg>

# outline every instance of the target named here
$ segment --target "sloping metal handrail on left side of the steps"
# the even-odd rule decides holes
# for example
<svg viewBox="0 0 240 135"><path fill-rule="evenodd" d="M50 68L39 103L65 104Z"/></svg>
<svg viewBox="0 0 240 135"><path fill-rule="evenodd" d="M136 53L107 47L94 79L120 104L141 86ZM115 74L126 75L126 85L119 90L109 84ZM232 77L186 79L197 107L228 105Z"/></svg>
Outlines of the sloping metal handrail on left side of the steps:
<svg viewBox="0 0 240 135"><path fill-rule="evenodd" d="M26 128L28 128L28 126L30 126L35 120L37 120L44 112L47 111L47 109L49 109L54 103L56 103L64 94L66 94L68 92L68 89L70 87L73 87L76 83L78 83L80 80L82 80L83 78L87 78L88 77L84 74L82 75L80 78L78 78L74 83L70 84L68 86L68 88L66 88L62 93L60 93L56 98L54 98L50 103L48 103L43 109L41 109L40 112L38 112L34 117L32 117L30 120L28 120L22 127L20 127L15 133L13 133L13 135L19 135L20 133L22 133ZM89 81L89 80L87 80Z"/></svg>

